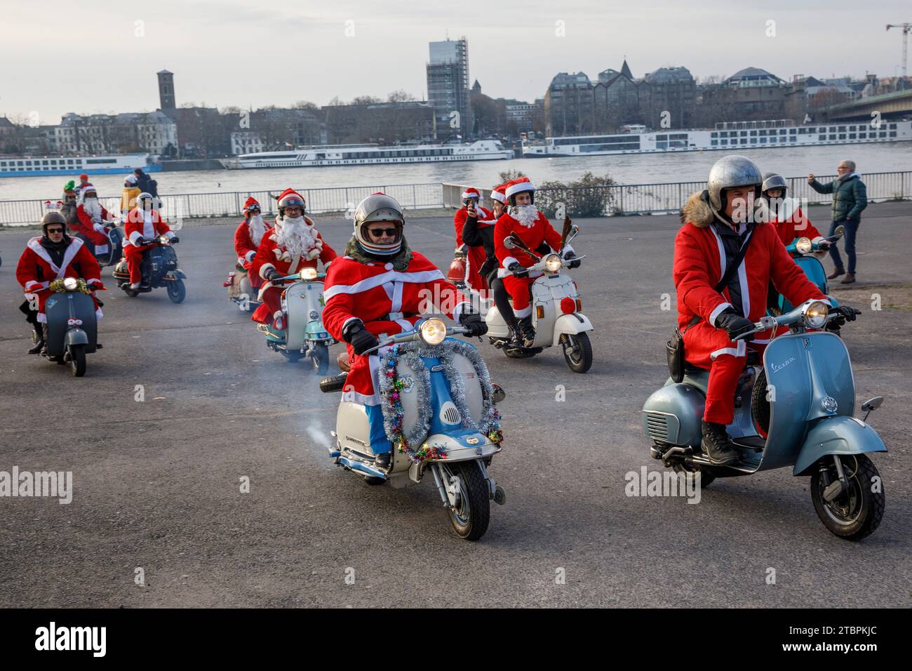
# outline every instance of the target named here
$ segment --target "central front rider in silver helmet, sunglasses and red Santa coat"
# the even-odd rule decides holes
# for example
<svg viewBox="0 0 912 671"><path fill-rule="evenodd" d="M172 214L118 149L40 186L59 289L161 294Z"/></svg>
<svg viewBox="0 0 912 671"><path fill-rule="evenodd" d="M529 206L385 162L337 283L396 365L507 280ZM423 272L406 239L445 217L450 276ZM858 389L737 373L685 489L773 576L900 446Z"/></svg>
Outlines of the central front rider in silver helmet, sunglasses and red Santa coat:
<svg viewBox="0 0 912 671"><path fill-rule="evenodd" d="M411 330L431 304L460 321L472 336L488 330L440 269L409 249L404 227L405 215L395 198L371 194L361 201L346 256L329 268L323 293L323 324L334 338L347 342L351 371L343 400L365 405L370 447L380 467L389 466L392 446L377 393L378 357L364 352L378 345L381 334Z"/></svg>

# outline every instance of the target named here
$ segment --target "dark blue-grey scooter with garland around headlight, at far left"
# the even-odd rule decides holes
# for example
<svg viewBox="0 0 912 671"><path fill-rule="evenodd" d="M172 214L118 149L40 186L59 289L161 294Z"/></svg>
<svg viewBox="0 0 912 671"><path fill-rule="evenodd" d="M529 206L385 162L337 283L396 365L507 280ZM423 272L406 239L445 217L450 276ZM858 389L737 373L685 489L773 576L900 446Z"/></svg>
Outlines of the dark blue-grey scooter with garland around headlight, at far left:
<svg viewBox="0 0 912 671"><path fill-rule="evenodd" d="M81 278L55 279L49 290L54 293L45 301L47 358L61 365L69 363L70 372L82 377L86 354L101 347L95 301Z"/></svg>

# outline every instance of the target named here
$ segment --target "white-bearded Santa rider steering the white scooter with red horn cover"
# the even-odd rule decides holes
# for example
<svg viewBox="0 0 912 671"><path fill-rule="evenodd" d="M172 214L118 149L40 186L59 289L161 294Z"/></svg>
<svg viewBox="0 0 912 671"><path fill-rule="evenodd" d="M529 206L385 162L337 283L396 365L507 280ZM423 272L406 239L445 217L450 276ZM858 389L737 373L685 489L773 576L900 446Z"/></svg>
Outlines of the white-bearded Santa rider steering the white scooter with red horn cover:
<svg viewBox="0 0 912 671"><path fill-rule="evenodd" d="M503 284L513 298L513 313L519 320L517 330L523 346L532 347L535 330L532 325L529 286L542 273L536 271L534 276L530 276L527 268L533 266L538 259L520 249L505 246L503 240L507 236L518 237L532 250L544 242L557 251L561 246L561 234L554 230L547 217L535 207L535 186L528 177L508 182L504 195L507 200L506 211L494 226L494 251L500 262L497 276L503 278ZM567 259L575 257L572 246L567 245L563 253ZM574 265L570 264L570 267Z"/></svg>

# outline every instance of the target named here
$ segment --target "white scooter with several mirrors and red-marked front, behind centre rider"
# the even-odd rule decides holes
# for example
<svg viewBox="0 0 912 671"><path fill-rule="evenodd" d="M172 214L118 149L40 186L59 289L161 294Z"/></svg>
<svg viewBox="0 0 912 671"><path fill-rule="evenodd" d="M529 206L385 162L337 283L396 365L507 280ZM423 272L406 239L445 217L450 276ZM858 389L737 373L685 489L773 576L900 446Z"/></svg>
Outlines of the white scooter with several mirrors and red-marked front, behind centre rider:
<svg viewBox="0 0 912 671"><path fill-rule="evenodd" d="M569 230L565 226L561 252L566 243L578 234L578 226L574 225ZM592 343L586 331L592 330L592 323L582 313L583 304L575 281L561 272L564 267L561 252L539 256L514 236L507 236L503 244L510 249L521 249L537 259L537 263L528 268L530 277L541 274L529 287L532 293L535 340L530 348L510 347L510 328L496 305L492 305L484 315L484 321L488 325L488 340L513 359L527 359L545 348L560 344L564 349L564 360L571 371L588 371L592 366ZM586 257L574 257L573 260L583 258Z"/></svg>

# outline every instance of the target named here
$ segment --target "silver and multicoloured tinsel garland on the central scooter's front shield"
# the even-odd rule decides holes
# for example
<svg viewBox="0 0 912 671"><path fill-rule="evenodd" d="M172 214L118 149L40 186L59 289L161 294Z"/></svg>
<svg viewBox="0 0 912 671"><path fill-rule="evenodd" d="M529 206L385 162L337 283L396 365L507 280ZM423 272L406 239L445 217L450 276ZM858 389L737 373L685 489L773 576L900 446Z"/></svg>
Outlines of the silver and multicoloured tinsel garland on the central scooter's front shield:
<svg viewBox="0 0 912 671"><path fill-rule="evenodd" d="M477 425L472 420L472 415L469 412L465 397L465 383L462 380L461 373L456 369L453 360L454 352L462 354L472 362L472 367L478 375L479 383L482 384L484 396L482 421ZM399 453L409 456L415 463L425 459L446 458L446 453L442 446L429 446L425 443L418 449L413 447L428 434L430 419L433 414L433 408L430 404L430 371L424 364L425 358L436 358L440 361L443 373L450 382L453 404L456 405L461 414L462 426L482 432L488 436L492 443L500 443L503 440L503 431L501 431L499 422L500 413L497 412L497 408L492 401L493 386L491 375L484 364L484 360L469 343L447 339L442 344L434 347L425 345L423 342L399 344L380 354L378 386L380 396L384 401L381 406L383 410L383 428L393 448L399 450ZM409 435L405 435L402 430L405 410L402 407L400 394L404 384L399 379L399 361L408 364L409 368L415 373L416 378L418 378L413 381L415 393L418 394L418 417Z"/></svg>

